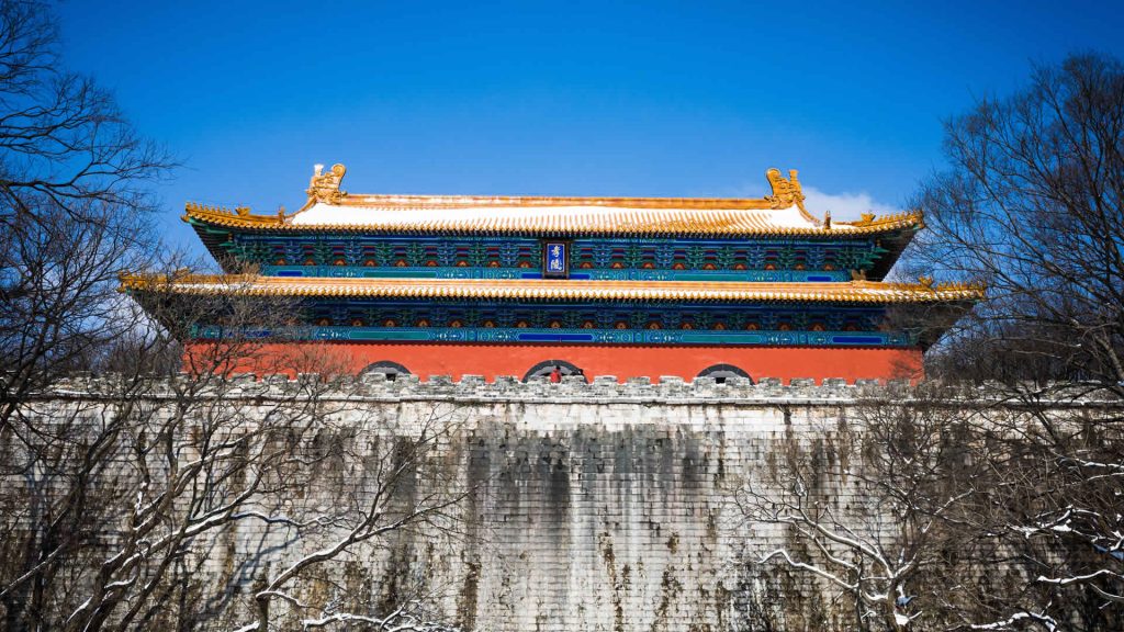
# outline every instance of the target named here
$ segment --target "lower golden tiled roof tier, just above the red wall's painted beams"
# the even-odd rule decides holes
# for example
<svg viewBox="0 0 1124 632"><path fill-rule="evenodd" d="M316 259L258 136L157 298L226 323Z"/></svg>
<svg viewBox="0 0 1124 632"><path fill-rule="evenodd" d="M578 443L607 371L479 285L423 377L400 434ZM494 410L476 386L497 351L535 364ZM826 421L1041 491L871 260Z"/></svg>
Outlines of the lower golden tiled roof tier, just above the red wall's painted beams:
<svg viewBox="0 0 1124 632"><path fill-rule="evenodd" d="M347 279L260 276L134 274L121 279L129 291L179 295L444 298L495 300L645 300L731 303L921 304L973 301L984 289L963 283L590 281L571 279Z"/></svg>

